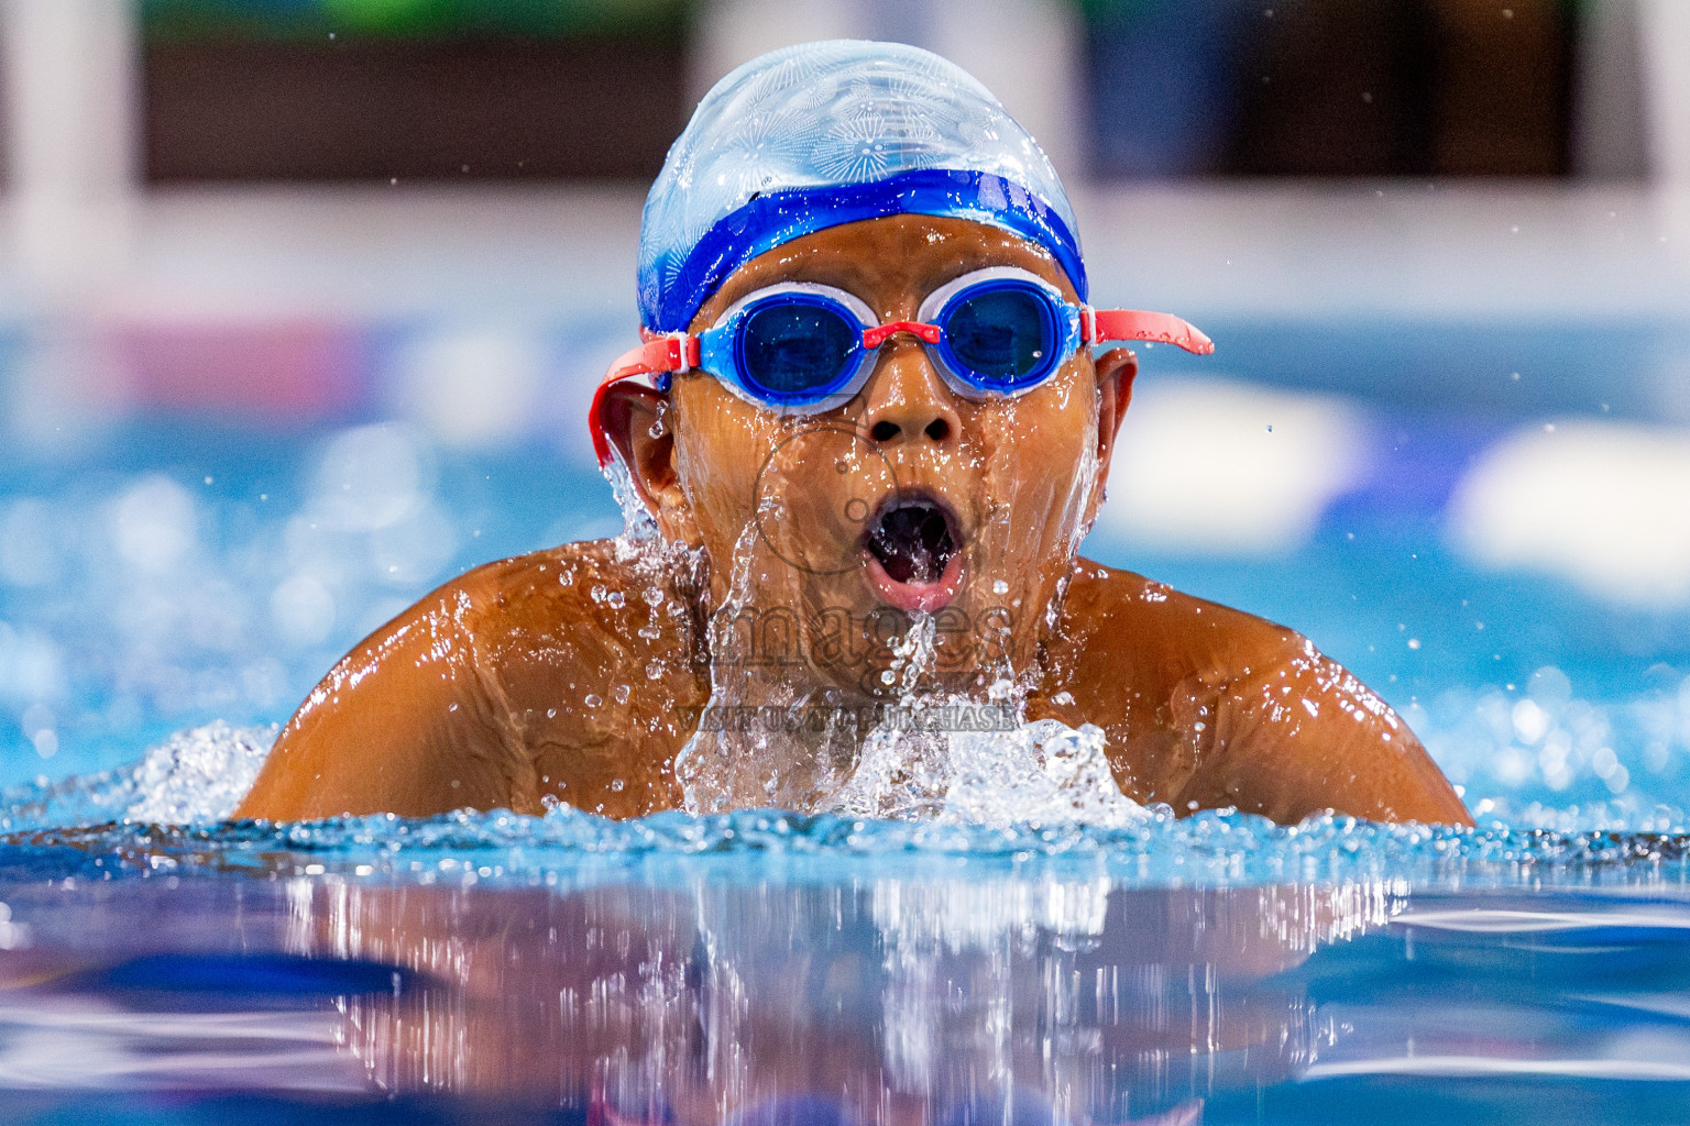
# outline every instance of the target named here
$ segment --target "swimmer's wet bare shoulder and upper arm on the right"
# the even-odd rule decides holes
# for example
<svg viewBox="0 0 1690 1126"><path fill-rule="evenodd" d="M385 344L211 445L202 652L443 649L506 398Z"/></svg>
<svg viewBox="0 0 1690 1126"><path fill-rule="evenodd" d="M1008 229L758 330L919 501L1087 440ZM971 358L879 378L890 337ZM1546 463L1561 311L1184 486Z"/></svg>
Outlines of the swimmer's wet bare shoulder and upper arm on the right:
<svg viewBox="0 0 1690 1126"><path fill-rule="evenodd" d="M1060 682L1146 800L1469 820L1408 724L1295 630L1090 560L1063 625Z"/></svg>

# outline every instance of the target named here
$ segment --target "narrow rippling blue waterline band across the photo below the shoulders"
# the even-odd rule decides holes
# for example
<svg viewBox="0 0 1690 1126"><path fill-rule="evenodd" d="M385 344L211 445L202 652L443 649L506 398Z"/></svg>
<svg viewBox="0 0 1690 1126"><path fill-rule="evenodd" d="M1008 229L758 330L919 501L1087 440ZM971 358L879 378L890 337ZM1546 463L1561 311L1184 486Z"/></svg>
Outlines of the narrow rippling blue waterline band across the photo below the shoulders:
<svg viewBox="0 0 1690 1126"><path fill-rule="evenodd" d="M865 820L830 814L679 812L608 820L571 809L544 817L460 810L429 819L389 814L272 826L113 822L35 827L0 836L7 880L118 880L157 874L309 876L580 888L713 866L732 881L1100 871L1119 886L1222 888L1273 883L1391 881L1394 888L1687 886L1690 834L1551 832L1489 824L1386 826L1310 817L1274 826L1249 814L1176 819L1166 807L1120 829L1080 824L1011 827ZM632 868L630 868L632 866ZM674 866L674 868L671 868Z"/></svg>

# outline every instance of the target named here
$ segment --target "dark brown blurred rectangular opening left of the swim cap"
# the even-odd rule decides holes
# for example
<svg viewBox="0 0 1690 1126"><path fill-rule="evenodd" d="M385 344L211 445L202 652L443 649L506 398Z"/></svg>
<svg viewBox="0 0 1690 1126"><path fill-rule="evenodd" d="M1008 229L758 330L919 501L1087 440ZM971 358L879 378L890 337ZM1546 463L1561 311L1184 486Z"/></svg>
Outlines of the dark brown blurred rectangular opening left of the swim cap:
<svg viewBox="0 0 1690 1126"><path fill-rule="evenodd" d="M684 0L144 0L152 182L649 179Z"/></svg>

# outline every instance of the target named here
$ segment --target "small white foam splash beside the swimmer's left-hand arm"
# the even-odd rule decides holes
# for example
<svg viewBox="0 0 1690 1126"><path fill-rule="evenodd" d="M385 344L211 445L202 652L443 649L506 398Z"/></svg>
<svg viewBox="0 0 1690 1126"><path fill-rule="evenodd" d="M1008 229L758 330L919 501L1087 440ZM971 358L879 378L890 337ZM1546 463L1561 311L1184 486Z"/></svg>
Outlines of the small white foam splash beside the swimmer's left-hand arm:
<svg viewBox="0 0 1690 1126"><path fill-rule="evenodd" d="M137 800L125 820L199 824L233 815L247 797L277 728L232 728L223 721L177 731L135 768Z"/></svg>

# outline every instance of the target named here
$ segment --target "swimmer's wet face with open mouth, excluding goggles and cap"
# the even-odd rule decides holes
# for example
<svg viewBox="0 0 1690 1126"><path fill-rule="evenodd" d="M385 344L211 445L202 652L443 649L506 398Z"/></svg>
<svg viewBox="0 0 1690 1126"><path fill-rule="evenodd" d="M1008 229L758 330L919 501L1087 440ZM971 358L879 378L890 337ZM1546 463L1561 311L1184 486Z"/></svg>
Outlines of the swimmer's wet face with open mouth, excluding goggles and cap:
<svg viewBox="0 0 1690 1126"><path fill-rule="evenodd" d="M985 267L1019 267L1078 302L1034 243L963 219L889 216L754 258L691 331L779 282L842 289L880 322L916 321L931 292ZM909 611L928 611L953 687L1006 663L1026 670L1095 515L1132 355L1093 361L1080 348L1014 398L955 392L908 333L870 363L855 398L811 415L747 402L703 371L681 375L661 419L646 400L619 446L662 533L708 550L711 606L732 598L764 623L752 648L779 648L786 625L801 623L798 655L818 677L875 692L886 638L908 630ZM781 636L764 636L771 628Z"/></svg>

